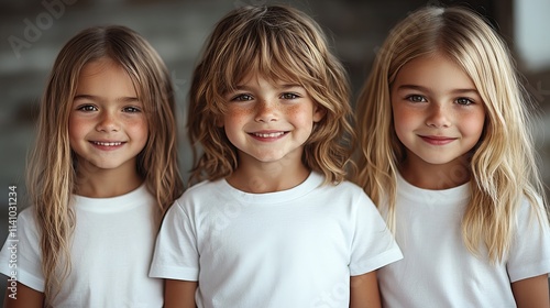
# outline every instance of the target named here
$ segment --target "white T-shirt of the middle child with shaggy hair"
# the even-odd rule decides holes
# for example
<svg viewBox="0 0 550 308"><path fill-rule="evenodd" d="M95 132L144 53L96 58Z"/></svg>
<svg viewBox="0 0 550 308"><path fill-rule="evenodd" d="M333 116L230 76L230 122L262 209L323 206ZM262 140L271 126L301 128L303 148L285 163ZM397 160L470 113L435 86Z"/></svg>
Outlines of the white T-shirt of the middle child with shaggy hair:
<svg viewBox="0 0 550 308"><path fill-rule="evenodd" d="M150 275L198 280L198 307L348 307L350 276L403 256L361 188L322 182L311 173L270 194L224 179L191 187L164 219Z"/></svg>

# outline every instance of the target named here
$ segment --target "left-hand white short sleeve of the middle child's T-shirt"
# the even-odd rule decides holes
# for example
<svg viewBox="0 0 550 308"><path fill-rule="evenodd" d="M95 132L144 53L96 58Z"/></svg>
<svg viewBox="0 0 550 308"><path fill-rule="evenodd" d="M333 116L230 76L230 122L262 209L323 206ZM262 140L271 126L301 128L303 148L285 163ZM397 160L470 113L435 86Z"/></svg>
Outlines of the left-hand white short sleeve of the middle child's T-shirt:
<svg viewBox="0 0 550 308"><path fill-rule="evenodd" d="M177 200L163 219L150 277L197 282L198 275L195 223Z"/></svg>

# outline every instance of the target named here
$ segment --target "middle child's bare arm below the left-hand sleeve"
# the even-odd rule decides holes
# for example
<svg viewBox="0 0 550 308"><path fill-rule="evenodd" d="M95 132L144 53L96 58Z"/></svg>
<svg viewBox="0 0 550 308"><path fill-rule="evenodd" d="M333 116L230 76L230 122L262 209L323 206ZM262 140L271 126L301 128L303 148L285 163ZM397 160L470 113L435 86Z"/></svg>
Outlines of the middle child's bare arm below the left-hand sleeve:
<svg viewBox="0 0 550 308"><path fill-rule="evenodd" d="M195 308L197 282L166 279L164 283L164 308Z"/></svg>

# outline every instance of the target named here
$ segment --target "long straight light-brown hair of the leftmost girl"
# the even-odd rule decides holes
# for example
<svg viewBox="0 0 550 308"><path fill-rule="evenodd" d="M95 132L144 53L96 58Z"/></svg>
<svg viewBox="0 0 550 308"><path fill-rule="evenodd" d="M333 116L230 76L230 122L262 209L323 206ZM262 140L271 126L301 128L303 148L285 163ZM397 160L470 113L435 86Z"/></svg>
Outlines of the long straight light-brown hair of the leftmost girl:
<svg viewBox="0 0 550 308"><path fill-rule="evenodd" d="M68 118L82 67L109 57L132 79L144 105L148 140L138 172L156 198L158 217L183 193L176 153L174 91L167 69L153 47L124 26L89 28L59 52L41 100L37 138L28 167L28 188L41 232L45 300L61 290L70 272L70 235L75 213L76 161L69 146Z"/></svg>

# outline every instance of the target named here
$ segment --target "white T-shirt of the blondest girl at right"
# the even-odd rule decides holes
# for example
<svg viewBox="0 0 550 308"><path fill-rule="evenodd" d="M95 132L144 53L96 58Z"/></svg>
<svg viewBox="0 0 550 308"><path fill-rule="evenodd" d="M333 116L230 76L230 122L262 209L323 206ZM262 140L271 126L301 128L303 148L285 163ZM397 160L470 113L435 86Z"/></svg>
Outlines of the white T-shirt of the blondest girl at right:
<svg viewBox="0 0 550 308"><path fill-rule="evenodd" d="M384 307L516 307L510 282L550 272L550 230L531 220L527 201L509 256L491 265L486 250L477 258L463 244L469 184L427 190L398 176L397 193L396 240L404 258L378 272Z"/></svg>

